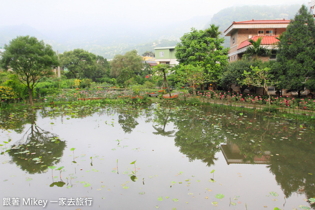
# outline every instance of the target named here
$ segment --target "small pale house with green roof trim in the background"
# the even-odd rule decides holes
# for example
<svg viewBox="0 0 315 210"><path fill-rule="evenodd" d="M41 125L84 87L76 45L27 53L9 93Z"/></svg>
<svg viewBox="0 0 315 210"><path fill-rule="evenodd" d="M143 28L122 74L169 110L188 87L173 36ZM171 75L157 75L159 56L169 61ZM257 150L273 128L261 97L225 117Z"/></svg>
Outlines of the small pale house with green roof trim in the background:
<svg viewBox="0 0 315 210"><path fill-rule="evenodd" d="M154 48L158 64L178 64L175 58L175 46Z"/></svg>

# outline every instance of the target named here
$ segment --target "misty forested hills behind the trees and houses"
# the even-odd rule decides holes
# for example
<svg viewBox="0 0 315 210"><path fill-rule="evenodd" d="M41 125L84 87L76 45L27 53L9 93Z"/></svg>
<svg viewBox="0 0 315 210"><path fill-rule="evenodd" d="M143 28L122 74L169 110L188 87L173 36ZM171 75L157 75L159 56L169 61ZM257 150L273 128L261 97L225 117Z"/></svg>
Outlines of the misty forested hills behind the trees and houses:
<svg viewBox="0 0 315 210"><path fill-rule="evenodd" d="M0 27L0 46L8 44L17 35L30 35L44 40L53 46L55 51L63 53L75 48L88 50L96 55L111 59L116 54L123 54L136 49L141 55L145 51L153 51L158 46L175 46L179 38L190 31L191 27L201 30L210 24L226 30L233 21L251 19L290 19L293 18L300 4L279 6L241 6L222 9L212 15L202 15L182 21L172 21L159 25L156 21L144 19L139 22L106 22L106 24L90 26L60 27L58 30L35 29L27 24ZM229 38L229 37L225 37ZM225 44L228 47L228 44Z"/></svg>

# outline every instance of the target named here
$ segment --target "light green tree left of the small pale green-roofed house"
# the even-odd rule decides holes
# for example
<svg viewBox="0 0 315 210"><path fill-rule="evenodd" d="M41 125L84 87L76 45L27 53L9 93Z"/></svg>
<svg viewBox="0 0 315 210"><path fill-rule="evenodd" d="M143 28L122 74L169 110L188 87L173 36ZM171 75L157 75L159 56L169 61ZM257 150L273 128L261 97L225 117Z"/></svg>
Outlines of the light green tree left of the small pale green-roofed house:
<svg viewBox="0 0 315 210"><path fill-rule="evenodd" d="M112 77L118 77L124 68L128 68L136 75L141 73L143 67L141 56L137 55L136 50L126 52L125 55L116 55L110 62L111 70L110 75Z"/></svg>

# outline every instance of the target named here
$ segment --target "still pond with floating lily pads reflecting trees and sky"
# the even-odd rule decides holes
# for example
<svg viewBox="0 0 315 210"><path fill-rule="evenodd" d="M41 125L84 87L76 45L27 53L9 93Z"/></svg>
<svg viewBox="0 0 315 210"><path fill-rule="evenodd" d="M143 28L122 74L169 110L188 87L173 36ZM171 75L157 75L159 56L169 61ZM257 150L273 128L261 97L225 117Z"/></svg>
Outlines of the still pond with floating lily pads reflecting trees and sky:
<svg viewBox="0 0 315 210"><path fill-rule="evenodd" d="M184 105L0 118L1 209L315 209L315 124Z"/></svg>

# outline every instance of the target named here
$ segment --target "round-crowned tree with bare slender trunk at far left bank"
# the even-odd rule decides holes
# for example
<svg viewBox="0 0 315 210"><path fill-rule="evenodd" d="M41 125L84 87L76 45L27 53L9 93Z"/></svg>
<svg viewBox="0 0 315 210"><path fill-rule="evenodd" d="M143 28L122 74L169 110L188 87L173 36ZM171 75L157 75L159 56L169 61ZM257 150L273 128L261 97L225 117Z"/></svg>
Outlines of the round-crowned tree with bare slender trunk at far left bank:
<svg viewBox="0 0 315 210"><path fill-rule="evenodd" d="M5 45L1 64L10 69L28 88L31 106L34 87L44 76L51 75L52 68L58 65L56 53L48 44L35 37L18 36Z"/></svg>

